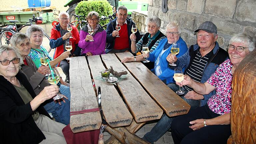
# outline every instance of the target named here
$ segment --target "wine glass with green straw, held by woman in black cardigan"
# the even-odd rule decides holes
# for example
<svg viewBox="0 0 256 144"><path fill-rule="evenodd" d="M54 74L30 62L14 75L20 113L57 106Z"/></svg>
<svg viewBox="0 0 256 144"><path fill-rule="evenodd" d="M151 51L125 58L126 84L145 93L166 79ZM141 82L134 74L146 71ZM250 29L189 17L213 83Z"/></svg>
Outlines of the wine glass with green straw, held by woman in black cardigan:
<svg viewBox="0 0 256 144"><path fill-rule="evenodd" d="M52 85L57 85L57 83L60 81L60 77L55 69L48 70L48 82ZM54 100L63 98L62 95L58 95L56 93L56 96L53 97Z"/></svg>

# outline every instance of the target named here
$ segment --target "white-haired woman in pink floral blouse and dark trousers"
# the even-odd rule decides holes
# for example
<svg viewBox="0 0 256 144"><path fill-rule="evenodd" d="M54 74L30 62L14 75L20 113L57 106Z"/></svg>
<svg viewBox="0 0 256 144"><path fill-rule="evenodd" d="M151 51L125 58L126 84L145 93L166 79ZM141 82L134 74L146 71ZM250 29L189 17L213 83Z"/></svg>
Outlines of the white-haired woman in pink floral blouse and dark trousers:
<svg viewBox="0 0 256 144"><path fill-rule="evenodd" d="M255 36L237 34L228 45L229 58L219 65L205 82L198 83L188 75L177 85L189 85L199 94L215 90L205 106L190 110L188 114L172 121L172 137L175 144L226 144L231 135L230 111L232 78L236 67L255 49Z"/></svg>

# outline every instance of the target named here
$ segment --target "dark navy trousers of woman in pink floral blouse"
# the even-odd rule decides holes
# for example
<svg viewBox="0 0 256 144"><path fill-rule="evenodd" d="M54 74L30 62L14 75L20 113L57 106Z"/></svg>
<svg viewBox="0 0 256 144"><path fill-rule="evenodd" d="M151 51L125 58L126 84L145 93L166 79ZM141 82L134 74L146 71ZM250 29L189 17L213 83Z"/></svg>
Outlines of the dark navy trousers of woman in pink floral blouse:
<svg viewBox="0 0 256 144"><path fill-rule="evenodd" d="M204 105L191 109L188 114L178 116L172 121L172 138L175 144L226 144L231 135L230 124L209 125L193 131L190 121L211 119L220 116ZM206 123L207 124L207 123Z"/></svg>

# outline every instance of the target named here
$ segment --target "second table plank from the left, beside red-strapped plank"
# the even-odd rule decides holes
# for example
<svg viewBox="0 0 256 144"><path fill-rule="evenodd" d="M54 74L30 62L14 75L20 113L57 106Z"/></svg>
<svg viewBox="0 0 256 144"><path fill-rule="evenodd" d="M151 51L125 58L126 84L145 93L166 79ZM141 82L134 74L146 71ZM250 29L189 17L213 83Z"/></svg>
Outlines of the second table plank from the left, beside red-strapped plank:
<svg viewBox="0 0 256 144"><path fill-rule="evenodd" d="M89 56L88 62L93 77L99 76L99 72L105 69L99 55ZM96 88L101 87L101 107L108 125L111 127L130 125L133 117L114 85L97 79L94 79L94 83Z"/></svg>

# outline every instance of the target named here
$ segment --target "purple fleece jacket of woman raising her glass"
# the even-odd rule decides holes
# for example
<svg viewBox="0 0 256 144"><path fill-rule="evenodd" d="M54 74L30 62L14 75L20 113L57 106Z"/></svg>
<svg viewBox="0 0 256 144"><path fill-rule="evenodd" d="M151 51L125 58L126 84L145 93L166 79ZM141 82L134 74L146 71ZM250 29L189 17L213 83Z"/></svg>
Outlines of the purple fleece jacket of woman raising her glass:
<svg viewBox="0 0 256 144"><path fill-rule="evenodd" d="M86 42L85 38L88 35L87 25L80 31L80 41L78 46L82 49L81 54L86 54L87 52L91 52L92 55L100 55L105 54L106 47L106 31L100 30L101 26L99 26L98 31L93 36L94 41Z"/></svg>

